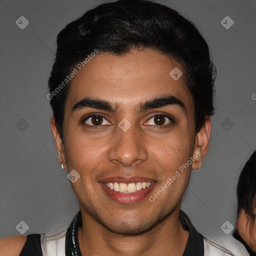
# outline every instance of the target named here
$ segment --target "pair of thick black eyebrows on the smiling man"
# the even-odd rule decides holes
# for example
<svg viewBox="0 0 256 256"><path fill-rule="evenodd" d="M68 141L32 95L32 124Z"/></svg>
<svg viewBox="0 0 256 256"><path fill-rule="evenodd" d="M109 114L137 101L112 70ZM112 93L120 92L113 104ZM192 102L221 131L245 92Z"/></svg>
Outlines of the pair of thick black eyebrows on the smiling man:
<svg viewBox="0 0 256 256"><path fill-rule="evenodd" d="M164 107L168 105L178 105L180 108L182 108L184 112L186 112L184 103L173 95L163 95L160 97L156 97L156 98L141 102L139 104L138 112L142 112L147 109L153 109L157 107ZM90 97L84 97L74 104L74 106L71 109L71 114L87 107L103 109L113 113L117 111L117 108L114 107L109 101L90 98Z"/></svg>

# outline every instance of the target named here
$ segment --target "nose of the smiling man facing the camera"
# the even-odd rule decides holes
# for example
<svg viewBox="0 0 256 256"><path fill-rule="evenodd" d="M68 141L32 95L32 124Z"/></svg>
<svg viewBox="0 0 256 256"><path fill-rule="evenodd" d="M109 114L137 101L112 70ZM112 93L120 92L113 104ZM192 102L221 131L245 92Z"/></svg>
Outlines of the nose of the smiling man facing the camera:
<svg viewBox="0 0 256 256"><path fill-rule="evenodd" d="M143 138L134 125L127 130L116 126L116 133L111 139L111 147L108 150L108 160L115 164L130 166L147 159L146 145Z"/></svg>

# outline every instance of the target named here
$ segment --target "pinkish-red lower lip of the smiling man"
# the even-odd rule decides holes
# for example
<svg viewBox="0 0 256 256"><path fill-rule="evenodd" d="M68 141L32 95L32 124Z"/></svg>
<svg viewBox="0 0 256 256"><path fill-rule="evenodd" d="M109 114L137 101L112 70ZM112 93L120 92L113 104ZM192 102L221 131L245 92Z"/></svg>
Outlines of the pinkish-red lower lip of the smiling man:
<svg viewBox="0 0 256 256"><path fill-rule="evenodd" d="M146 188L142 188L141 190L139 190L137 192L127 193L127 194L116 192L113 189L108 188L102 182L99 182L99 184L104 189L106 194L110 198L115 200L116 202L130 204L130 203L138 202L138 201L144 199L150 193L150 191L153 189L156 182L154 182L152 185L150 185Z"/></svg>

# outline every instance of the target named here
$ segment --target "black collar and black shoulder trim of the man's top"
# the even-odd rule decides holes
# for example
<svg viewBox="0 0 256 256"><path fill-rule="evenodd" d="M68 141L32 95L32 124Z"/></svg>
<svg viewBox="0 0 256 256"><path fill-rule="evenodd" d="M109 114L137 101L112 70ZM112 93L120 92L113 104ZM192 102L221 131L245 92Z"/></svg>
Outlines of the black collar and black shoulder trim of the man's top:
<svg viewBox="0 0 256 256"><path fill-rule="evenodd" d="M179 211L179 219L182 227L189 231L189 237L182 256L203 256L203 236L199 234L191 224L188 216ZM78 244L78 227L82 226L81 211L74 216L65 235L65 256L81 256ZM40 234L28 234L26 242L19 256L42 256ZM55 256L55 255L51 255Z"/></svg>

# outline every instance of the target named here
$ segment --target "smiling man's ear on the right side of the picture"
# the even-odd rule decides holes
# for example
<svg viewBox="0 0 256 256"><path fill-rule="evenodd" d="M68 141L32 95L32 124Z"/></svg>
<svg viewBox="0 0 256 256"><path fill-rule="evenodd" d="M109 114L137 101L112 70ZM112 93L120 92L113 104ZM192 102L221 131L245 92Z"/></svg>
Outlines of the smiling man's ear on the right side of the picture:
<svg viewBox="0 0 256 256"><path fill-rule="evenodd" d="M202 127L195 134L193 156L197 156L197 157L196 158L193 157L194 158L192 163L193 170L197 170L200 168L201 163L208 152L210 133L211 133L210 117L206 116Z"/></svg>

